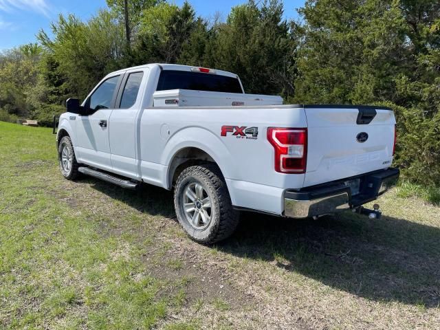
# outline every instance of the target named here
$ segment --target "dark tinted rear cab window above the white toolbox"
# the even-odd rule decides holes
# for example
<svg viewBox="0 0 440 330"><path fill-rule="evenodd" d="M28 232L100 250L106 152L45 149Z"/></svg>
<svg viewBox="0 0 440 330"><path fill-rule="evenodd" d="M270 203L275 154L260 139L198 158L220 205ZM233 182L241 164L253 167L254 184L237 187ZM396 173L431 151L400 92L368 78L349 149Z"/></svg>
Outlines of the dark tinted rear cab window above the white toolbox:
<svg viewBox="0 0 440 330"><path fill-rule="evenodd" d="M220 74L162 70L156 90L168 91L170 89L220 91L223 93L243 94L243 89L241 89L241 84L238 78L222 76Z"/></svg>

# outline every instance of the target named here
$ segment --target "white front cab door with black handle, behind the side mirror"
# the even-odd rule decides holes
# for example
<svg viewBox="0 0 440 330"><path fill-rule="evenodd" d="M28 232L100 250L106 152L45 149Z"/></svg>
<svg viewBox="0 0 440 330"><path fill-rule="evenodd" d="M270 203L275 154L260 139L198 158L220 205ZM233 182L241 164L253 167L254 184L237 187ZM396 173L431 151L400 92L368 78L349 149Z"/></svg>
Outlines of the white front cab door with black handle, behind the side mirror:
<svg viewBox="0 0 440 330"><path fill-rule="evenodd" d="M121 74L107 78L85 101L89 115L78 116L76 123L79 162L111 170L109 118L121 78Z"/></svg>

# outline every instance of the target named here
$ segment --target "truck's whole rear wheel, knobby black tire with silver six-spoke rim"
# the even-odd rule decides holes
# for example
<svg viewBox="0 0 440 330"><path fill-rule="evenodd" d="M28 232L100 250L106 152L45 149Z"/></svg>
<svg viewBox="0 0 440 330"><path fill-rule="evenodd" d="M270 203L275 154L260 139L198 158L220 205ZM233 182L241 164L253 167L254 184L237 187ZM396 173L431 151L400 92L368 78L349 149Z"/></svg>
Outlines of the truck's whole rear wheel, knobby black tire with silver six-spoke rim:
<svg viewBox="0 0 440 330"><path fill-rule="evenodd" d="M211 244L230 236L239 222L228 188L217 166L190 166L174 190L177 219L191 239Z"/></svg>

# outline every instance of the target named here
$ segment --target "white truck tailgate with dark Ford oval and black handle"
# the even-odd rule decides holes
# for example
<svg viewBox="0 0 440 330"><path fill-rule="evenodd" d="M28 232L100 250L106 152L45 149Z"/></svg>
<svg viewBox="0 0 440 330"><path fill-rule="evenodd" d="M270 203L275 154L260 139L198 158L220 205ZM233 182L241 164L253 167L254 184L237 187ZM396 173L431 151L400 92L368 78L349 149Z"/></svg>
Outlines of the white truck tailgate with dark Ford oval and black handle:
<svg viewBox="0 0 440 330"><path fill-rule="evenodd" d="M395 138L391 109L305 106L305 113L308 126L305 187L391 165Z"/></svg>

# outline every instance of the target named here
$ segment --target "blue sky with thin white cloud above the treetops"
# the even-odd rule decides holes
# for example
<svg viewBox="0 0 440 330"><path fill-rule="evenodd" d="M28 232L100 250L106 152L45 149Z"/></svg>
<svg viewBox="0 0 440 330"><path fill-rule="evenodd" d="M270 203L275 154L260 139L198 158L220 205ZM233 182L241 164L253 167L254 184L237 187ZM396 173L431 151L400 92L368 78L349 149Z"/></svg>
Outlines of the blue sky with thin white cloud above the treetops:
<svg viewBox="0 0 440 330"><path fill-rule="evenodd" d="M170 0L181 5L184 0ZM201 17L213 17L219 12L225 19L234 5L246 0L189 0ZM305 0L284 0L285 17L296 19L296 8ZM0 0L0 50L24 43L36 42L35 34L43 29L50 32L50 23L58 14L76 14L83 20L92 17L99 8L107 8L105 0Z"/></svg>

